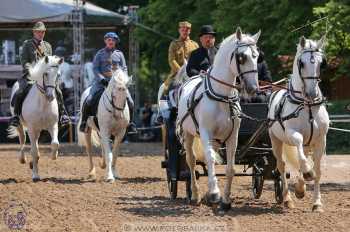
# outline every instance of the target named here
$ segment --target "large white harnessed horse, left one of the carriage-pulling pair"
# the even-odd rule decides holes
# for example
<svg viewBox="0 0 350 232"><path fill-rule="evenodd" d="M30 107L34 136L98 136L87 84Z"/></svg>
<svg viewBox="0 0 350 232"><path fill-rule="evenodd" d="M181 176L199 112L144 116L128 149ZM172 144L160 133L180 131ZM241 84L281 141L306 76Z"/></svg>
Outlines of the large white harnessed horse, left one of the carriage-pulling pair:
<svg viewBox="0 0 350 232"><path fill-rule="evenodd" d="M248 93L258 90L256 43L260 31L254 36L236 33L226 38L214 60L209 73L203 77L192 77L179 90L177 132L182 137L186 160L191 171L191 202L200 202L199 186L195 176L196 156L192 150L193 141L200 136L208 167L208 203L220 203L220 190L215 175L215 153L218 143L227 147L225 193L220 208L231 207L230 193L234 176L234 154L237 147L240 126L240 105L236 78L240 77L242 89ZM203 81L202 81L203 80Z"/></svg>

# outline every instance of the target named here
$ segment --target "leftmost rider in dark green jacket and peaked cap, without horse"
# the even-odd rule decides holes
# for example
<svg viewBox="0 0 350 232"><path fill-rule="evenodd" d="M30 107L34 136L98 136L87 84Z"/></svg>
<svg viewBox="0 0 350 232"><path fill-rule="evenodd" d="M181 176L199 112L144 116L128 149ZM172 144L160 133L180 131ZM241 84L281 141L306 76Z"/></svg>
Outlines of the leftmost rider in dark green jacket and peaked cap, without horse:
<svg viewBox="0 0 350 232"><path fill-rule="evenodd" d="M23 67L23 75L22 78L18 80L19 89L13 98L15 116L10 119L10 125L12 126L17 127L19 125L22 104L32 86L32 84L28 83L27 79L29 75L29 67L38 62L41 58L52 55L51 45L44 41L45 32L46 27L43 22L35 23L33 27L33 38L25 40L22 45L20 58ZM62 92L58 86L56 86L56 96L60 114L60 124L65 125L69 122L69 117L66 115Z"/></svg>

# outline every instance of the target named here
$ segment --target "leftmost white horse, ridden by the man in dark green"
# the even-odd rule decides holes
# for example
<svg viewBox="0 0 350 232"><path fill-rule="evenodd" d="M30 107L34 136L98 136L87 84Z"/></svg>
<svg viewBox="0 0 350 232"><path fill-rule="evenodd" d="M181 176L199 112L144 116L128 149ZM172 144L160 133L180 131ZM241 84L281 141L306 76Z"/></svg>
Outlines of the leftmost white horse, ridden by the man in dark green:
<svg viewBox="0 0 350 232"><path fill-rule="evenodd" d="M28 78L34 81L35 84L31 87L23 102L20 125L8 128L9 138L19 136L21 163L26 162L24 146L26 140L25 130L28 130L31 143L32 161L30 162L30 167L33 181L40 180L38 174L40 157L38 139L42 130L48 130L51 135L52 159L57 159L58 155L58 105L55 88L59 65L62 61L63 59L57 56L45 56L34 67L29 69ZM18 87L18 82L16 82L12 87L11 99ZM14 114L13 110L13 107L11 107L12 114Z"/></svg>

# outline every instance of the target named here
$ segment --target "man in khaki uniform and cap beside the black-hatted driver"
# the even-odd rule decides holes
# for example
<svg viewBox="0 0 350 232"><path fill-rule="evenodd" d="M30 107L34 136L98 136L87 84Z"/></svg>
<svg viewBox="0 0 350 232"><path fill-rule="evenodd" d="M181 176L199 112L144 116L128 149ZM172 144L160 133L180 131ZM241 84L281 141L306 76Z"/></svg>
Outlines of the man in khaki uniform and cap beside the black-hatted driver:
<svg viewBox="0 0 350 232"><path fill-rule="evenodd" d="M169 46L168 62L171 68L170 75L165 81L166 87L184 64L185 59L188 60L193 50L197 49L198 44L190 39L191 24L187 21L179 22L180 37L173 40Z"/></svg>

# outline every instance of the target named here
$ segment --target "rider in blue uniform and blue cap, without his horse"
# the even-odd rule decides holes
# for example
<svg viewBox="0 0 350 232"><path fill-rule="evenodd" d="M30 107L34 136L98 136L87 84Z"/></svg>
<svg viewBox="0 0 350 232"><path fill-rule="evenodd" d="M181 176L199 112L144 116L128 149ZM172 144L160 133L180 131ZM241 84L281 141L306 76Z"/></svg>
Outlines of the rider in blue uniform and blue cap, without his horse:
<svg viewBox="0 0 350 232"><path fill-rule="evenodd" d="M104 36L106 47L102 48L97 52L93 61L93 70L97 77L93 84L90 94L87 97L82 112L82 121L79 130L86 132L87 130L87 119L89 116L93 116L98 107L100 97L108 85L110 78L113 75L113 71L120 68L127 73L127 66L123 53L116 49L116 43L119 42L119 37L114 32L108 32ZM134 112L134 102L128 91L127 103L130 111L131 123L129 124L128 131L136 133L136 126L132 122Z"/></svg>

